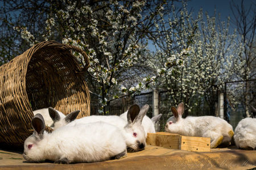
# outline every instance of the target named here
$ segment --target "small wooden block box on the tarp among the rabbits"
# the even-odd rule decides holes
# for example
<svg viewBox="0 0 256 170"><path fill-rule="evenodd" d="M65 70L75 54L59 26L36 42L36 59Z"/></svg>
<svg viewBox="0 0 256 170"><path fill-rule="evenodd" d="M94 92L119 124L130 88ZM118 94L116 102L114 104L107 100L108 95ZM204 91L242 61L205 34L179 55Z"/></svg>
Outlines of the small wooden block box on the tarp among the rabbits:
<svg viewBox="0 0 256 170"><path fill-rule="evenodd" d="M148 133L146 143L151 146L160 146L175 150L209 152L210 138L182 136L168 132Z"/></svg>

